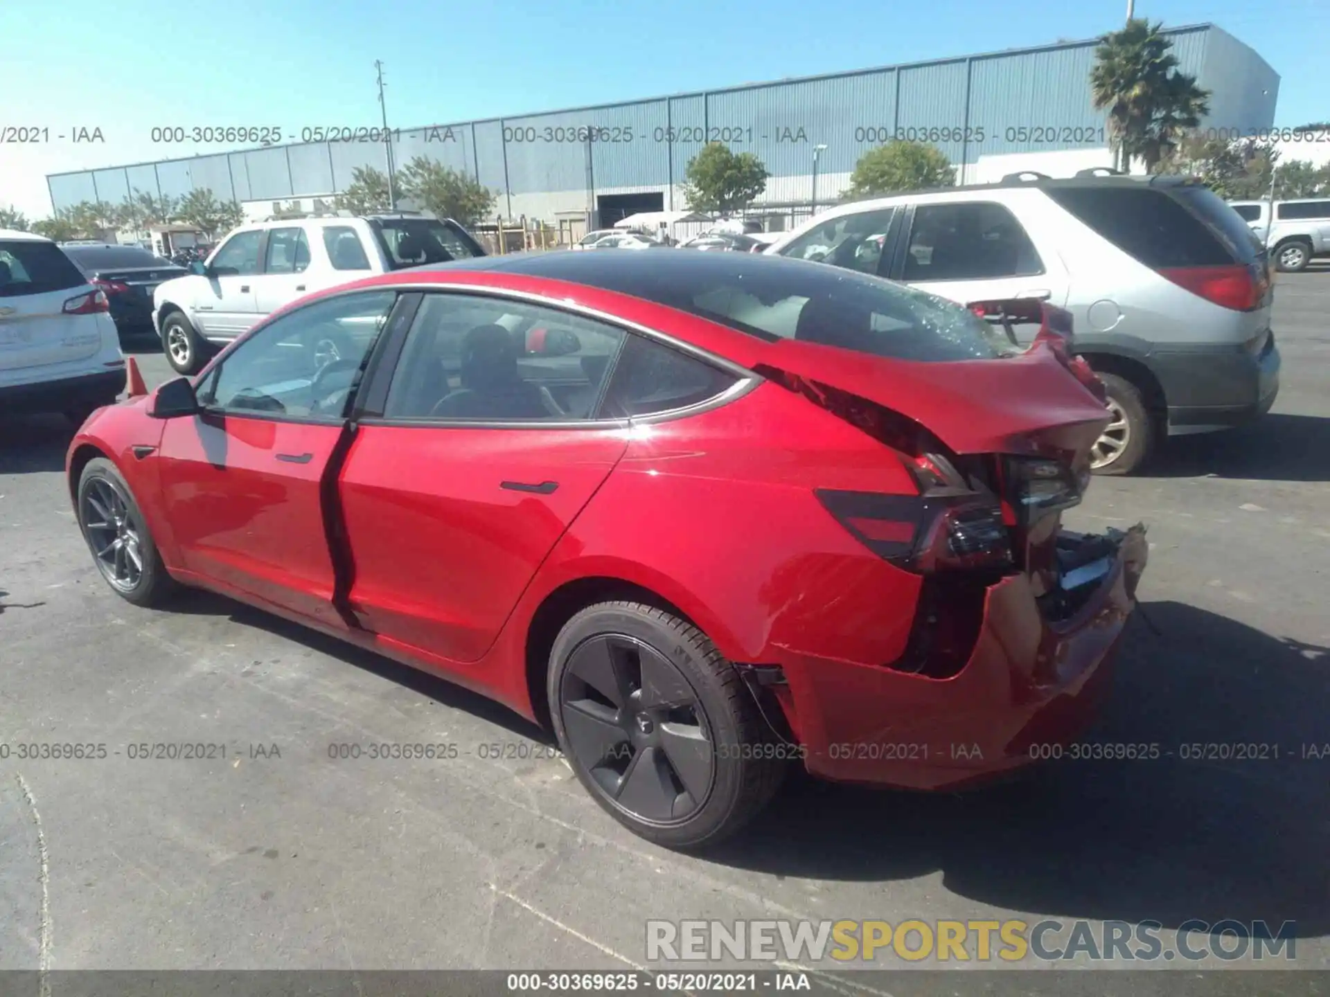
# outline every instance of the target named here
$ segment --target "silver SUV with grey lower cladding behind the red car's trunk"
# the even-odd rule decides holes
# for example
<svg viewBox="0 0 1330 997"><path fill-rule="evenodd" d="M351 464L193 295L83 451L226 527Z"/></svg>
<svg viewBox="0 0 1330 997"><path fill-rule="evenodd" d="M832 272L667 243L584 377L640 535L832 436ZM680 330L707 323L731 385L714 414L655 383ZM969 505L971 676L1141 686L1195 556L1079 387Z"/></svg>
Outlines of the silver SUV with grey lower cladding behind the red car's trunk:
<svg viewBox="0 0 1330 997"><path fill-rule="evenodd" d="M1185 179L1021 174L862 201L767 253L964 304L1037 298L1067 308L1113 413L1095 448L1101 473L1133 471L1165 433L1256 419L1279 387L1265 250L1222 199ZM1017 339L1035 331L1017 328Z"/></svg>

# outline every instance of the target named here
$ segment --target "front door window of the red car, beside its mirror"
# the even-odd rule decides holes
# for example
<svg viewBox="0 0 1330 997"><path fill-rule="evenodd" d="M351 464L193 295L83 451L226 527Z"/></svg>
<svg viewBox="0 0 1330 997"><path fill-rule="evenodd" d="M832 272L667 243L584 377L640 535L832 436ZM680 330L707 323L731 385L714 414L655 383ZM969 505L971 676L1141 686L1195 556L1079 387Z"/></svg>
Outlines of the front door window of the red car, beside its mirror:
<svg viewBox="0 0 1330 997"><path fill-rule="evenodd" d="M275 319L222 360L200 401L235 413L340 419L395 300L395 291L366 291Z"/></svg>

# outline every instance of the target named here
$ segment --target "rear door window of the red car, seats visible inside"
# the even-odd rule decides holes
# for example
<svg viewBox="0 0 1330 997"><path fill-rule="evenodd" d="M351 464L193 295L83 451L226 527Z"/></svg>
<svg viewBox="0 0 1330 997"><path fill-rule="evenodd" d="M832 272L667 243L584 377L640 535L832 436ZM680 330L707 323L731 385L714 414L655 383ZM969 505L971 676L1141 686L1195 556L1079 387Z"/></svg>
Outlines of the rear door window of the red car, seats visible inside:
<svg viewBox="0 0 1330 997"><path fill-rule="evenodd" d="M591 419L624 336L613 326L525 302L426 295L383 415L468 421Z"/></svg>

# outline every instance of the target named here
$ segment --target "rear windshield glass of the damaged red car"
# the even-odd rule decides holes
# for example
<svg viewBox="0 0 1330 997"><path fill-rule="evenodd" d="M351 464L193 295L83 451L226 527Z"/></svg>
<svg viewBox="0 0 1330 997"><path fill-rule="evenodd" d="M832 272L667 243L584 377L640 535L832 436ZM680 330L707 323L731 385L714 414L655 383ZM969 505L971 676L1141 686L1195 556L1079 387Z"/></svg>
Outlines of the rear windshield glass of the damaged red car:
<svg viewBox="0 0 1330 997"><path fill-rule="evenodd" d="M662 250L660 266L652 261L605 259L596 273L579 273L573 279L666 304L767 342L798 339L923 362L992 359L1015 352L1001 331L967 308L904 284L751 253L728 253L724 263L712 266L708 257L713 255Z"/></svg>

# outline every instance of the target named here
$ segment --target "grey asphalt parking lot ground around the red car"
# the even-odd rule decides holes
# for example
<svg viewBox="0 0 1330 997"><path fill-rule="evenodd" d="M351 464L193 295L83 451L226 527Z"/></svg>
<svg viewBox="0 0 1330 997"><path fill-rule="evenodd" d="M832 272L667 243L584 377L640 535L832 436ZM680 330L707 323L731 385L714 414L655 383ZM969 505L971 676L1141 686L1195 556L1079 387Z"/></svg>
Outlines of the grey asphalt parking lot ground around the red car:
<svg viewBox="0 0 1330 997"><path fill-rule="evenodd" d="M1279 277L1274 327L1269 416L1173 440L1068 516L1149 526L1142 611L1087 740L1157 759L963 795L794 778L704 857L630 836L544 734L446 682L201 593L122 602L74 525L69 425L0 421L0 742L108 746L0 759L0 969L621 969L645 962L648 919L689 917L1153 920L1165 946L1190 920L1297 921L1295 960L1264 965L1330 968L1330 270ZM140 359L168 376L152 344ZM330 758L376 742L459 756ZM130 758L157 743L225 756ZM1214 992L1254 992L1233 980ZM1104 990L1077 973L1047 992Z"/></svg>

